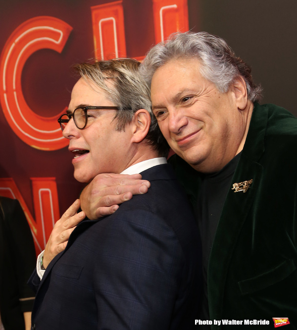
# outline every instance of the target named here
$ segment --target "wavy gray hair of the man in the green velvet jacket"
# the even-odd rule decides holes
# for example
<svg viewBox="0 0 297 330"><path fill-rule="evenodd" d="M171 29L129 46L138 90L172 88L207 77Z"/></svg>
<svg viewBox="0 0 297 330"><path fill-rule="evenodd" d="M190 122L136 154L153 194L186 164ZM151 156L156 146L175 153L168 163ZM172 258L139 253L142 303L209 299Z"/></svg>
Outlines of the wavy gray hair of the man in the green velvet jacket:
<svg viewBox="0 0 297 330"><path fill-rule="evenodd" d="M150 49L140 70L150 85L159 67L170 60L189 57L200 60L202 76L215 84L221 93L226 93L234 79L242 76L247 85L248 99L252 102L261 99L262 88L253 82L250 67L235 55L222 38L207 32L172 34L168 40Z"/></svg>

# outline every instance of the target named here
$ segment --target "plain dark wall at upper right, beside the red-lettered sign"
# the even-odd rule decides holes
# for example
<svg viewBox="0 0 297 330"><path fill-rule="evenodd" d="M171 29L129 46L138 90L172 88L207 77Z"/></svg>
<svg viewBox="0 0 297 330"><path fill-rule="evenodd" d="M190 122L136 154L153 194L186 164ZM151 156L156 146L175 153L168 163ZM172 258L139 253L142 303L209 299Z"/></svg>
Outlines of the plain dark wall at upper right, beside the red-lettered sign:
<svg viewBox="0 0 297 330"><path fill-rule="evenodd" d="M264 89L262 103L297 115L297 1L189 0L189 4L195 6L189 10L190 28L219 35L247 61Z"/></svg>

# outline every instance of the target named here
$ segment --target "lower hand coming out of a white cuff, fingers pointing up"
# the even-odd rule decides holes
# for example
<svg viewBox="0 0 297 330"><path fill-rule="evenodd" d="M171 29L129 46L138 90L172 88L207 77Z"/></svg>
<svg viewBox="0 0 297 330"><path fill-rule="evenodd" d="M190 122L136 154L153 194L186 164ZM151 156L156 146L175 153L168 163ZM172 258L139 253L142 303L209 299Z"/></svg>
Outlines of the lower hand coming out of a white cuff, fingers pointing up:
<svg viewBox="0 0 297 330"><path fill-rule="evenodd" d="M55 223L49 236L43 257L44 268L48 267L51 260L58 253L65 250L70 234L76 226L85 219L86 214L83 211L77 213L79 208L80 200L77 199L62 215L61 219Z"/></svg>

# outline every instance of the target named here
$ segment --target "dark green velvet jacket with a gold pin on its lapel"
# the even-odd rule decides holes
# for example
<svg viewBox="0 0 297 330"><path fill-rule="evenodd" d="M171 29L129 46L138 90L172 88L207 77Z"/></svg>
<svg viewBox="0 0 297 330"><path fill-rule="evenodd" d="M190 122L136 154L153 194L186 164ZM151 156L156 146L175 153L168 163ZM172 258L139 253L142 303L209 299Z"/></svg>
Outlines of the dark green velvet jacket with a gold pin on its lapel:
<svg viewBox="0 0 297 330"><path fill-rule="evenodd" d="M176 155L171 163L195 205L199 173ZM254 105L232 184L250 179L247 192L230 186L216 230L210 320L266 320L262 327L274 329L272 318L282 317L289 318L288 330L297 329L297 118L287 110Z"/></svg>

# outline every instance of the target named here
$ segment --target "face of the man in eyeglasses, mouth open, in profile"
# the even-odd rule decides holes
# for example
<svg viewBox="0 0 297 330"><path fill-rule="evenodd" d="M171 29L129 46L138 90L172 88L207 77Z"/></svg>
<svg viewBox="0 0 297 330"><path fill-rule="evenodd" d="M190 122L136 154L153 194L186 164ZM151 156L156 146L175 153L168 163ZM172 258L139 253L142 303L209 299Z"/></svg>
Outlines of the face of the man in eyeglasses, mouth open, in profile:
<svg viewBox="0 0 297 330"><path fill-rule="evenodd" d="M68 112L83 106L115 106L105 92L88 80L80 78L73 87ZM88 110L84 129L70 119L63 136L69 139L69 151L74 154L74 177L89 182L99 173L120 173L127 165L130 146L129 130L116 131L116 110Z"/></svg>

